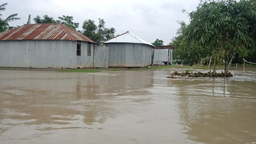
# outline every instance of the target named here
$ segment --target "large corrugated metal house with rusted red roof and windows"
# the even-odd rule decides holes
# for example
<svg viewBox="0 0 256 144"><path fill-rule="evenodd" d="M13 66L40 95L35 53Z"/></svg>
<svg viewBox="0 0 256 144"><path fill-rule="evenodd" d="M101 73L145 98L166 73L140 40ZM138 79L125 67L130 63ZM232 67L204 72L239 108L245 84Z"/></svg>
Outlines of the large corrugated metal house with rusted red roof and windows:
<svg viewBox="0 0 256 144"><path fill-rule="evenodd" d="M0 67L93 67L94 44L64 24L25 24L0 33Z"/></svg>

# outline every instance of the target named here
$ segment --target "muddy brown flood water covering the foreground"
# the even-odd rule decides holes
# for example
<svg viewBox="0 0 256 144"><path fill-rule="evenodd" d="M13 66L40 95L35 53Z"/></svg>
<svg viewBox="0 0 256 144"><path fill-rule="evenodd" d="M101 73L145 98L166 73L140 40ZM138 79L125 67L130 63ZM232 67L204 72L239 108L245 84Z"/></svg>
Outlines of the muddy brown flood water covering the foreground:
<svg viewBox="0 0 256 144"><path fill-rule="evenodd" d="M256 67L232 73L0 70L0 144L256 144Z"/></svg>

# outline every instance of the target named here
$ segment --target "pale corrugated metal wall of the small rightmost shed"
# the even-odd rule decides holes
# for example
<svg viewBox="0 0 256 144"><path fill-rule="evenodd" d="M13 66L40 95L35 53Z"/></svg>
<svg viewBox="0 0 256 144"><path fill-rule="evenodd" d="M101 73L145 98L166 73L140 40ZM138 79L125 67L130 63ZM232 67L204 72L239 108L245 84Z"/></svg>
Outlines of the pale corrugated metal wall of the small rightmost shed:
<svg viewBox="0 0 256 144"><path fill-rule="evenodd" d="M154 49L154 60L153 64L160 65L162 62L168 61L168 49Z"/></svg>

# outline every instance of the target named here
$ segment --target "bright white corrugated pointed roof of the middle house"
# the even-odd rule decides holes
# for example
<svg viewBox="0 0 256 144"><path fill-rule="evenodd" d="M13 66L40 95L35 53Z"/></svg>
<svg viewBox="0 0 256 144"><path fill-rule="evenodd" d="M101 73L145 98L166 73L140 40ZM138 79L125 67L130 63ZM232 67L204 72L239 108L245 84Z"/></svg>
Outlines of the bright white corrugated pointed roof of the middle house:
<svg viewBox="0 0 256 144"><path fill-rule="evenodd" d="M107 43L136 43L136 44L148 44L150 46L155 47L149 42L146 42L142 38L136 36L135 34L132 34L130 32L125 32L123 34L120 34L119 36L115 36L113 38L110 38L109 40L106 40L104 44Z"/></svg>

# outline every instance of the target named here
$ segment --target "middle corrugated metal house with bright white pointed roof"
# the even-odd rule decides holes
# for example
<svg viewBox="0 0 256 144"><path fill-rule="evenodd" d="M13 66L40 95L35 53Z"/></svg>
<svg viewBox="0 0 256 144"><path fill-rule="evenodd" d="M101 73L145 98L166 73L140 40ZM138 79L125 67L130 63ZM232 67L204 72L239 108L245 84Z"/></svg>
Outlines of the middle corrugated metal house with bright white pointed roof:
<svg viewBox="0 0 256 144"><path fill-rule="evenodd" d="M120 67L144 67L152 64L152 48L149 42L125 32L104 44L109 47L109 65Z"/></svg>

